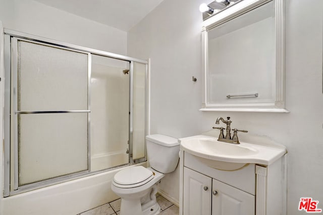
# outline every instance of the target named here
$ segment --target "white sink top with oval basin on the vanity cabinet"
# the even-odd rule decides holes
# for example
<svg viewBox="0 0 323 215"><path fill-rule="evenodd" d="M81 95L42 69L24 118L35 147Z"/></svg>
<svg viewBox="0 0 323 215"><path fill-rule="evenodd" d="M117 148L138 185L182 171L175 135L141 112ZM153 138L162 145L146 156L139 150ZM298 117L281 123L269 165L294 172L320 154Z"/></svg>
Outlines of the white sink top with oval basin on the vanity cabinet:
<svg viewBox="0 0 323 215"><path fill-rule="evenodd" d="M229 144L216 137L196 135L180 138L180 149L202 163L220 170L237 170L250 163L270 165L286 154L286 149L240 142Z"/></svg>

